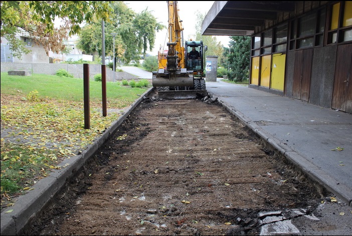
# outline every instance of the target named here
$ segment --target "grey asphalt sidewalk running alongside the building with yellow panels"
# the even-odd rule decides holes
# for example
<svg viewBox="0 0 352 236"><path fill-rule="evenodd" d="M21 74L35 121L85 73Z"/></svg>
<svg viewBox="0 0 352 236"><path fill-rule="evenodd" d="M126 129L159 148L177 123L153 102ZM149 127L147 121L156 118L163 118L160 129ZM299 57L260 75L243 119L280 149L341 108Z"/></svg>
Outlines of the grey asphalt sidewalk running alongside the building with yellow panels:
<svg viewBox="0 0 352 236"><path fill-rule="evenodd" d="M303 172L352 206L352 115L248 86L206 82L209 94Z"/></svg>

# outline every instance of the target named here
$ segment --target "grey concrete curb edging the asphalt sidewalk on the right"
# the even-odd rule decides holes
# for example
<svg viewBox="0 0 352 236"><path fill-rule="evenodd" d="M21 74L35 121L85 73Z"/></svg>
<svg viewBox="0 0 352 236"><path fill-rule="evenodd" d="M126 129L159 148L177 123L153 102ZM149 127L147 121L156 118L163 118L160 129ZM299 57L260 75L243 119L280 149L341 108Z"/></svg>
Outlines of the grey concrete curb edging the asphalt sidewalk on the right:
<svg viewBox="0 0 352 236"><path fill-rule="evenodd" d="M314 183L318 183L320 186L323 186L328 191L338 196L343 202L349 206L352 206L352 190L350 188L344 184L340 184L332 176L328 175L326 172L309 162L307 158L304 158L296 151L274 138L271 134L263 130L256 123L252 122L251 119L246 117L241 112L231 108L222 101L219 101L219 103L222 104L227 111L235 115L245 126L261 137L262 141L269 149L285 157L290 163L306 174L308 179Z"/></svg>

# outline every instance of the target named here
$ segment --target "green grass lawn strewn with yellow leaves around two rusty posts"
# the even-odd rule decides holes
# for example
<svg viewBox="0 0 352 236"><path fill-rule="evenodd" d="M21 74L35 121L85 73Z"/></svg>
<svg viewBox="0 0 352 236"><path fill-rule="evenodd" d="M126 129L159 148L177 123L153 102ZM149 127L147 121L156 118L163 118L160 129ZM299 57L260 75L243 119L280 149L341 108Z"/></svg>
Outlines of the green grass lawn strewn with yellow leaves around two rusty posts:
<svg viewBox="0 0 352 236"><path fill-rule="evenodd" d="M1 208L30 191L65 158L84 150L151 87L147 80L89 82L90 129L84 128L83 79L1 73Z"/></svg>

